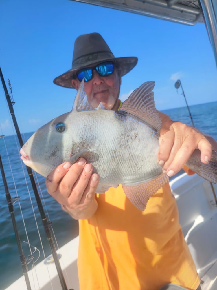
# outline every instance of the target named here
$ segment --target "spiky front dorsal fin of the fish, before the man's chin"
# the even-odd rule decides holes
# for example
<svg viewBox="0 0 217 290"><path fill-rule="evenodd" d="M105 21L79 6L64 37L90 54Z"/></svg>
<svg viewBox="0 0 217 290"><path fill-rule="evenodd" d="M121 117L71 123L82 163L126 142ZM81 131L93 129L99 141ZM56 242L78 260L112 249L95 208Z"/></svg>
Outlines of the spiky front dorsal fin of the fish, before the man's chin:
<svg viewBox="0 0 217 290"><path fill-rule="evenodd" d="M84 79L78 88L78 92L75 96L75 100L72 106L72 111L81 112L81 111L93 111L93 110L106 110L102 103L99 104L97 108L91 106L87 100L87 94L84 91Z"/></svg>

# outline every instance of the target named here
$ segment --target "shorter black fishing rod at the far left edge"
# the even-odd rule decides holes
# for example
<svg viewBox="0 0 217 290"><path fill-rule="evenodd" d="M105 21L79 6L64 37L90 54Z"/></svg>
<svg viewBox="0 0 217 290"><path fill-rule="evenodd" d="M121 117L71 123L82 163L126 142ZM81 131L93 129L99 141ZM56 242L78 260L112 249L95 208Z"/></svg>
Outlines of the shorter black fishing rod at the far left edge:
<svg viewBox="0 0 217 290"><path fill-rule="evenodd" d="M0 138L1 137L4 137L4 135L0 136ZM6 199L7 199L7 202L8 202L8 209L9 209L10 216L11 216L11 219L12 219L12 224L13 224L13 227L14 227L16 243L17 243L19 254L20 254L20 261L21 261L21 264L22 264L23 275L25 277L27 289L31 290L30 280L29 280L29 276L28 276L28 267L27 267L27 263L26 263L26 258L25 258L25 255L23 253L23 248L22 248L22 244L21 244L21 240L20 240L20 236L19 236L19 232L18 232L18 228L17 228L17 224L16 224L15 215L14 215L14 206L13 206L13 204L14 204L14 202L16 202L19 199L19 197L11 198L10 192L8 190L8 184L7 184L7 180L6 180L6 176L5 176L2 160L1 160L1 154L0 154L0 169L1 169L2 180L3 180L3 183L4 183L4 187L5 187L5 195L6 195Z"/></svg>

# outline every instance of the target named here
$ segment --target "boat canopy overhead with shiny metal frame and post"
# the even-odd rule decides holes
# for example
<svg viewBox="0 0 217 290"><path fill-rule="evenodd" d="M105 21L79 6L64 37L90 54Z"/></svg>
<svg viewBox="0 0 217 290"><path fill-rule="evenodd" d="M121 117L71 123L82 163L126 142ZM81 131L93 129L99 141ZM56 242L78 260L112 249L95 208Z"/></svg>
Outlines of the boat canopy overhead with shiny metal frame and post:
<svg viewBox="0 0 217 290"><path fill-rule="evenodd" d="M216 0L71 0L194 25L205 23L217 65Z"/></svg>

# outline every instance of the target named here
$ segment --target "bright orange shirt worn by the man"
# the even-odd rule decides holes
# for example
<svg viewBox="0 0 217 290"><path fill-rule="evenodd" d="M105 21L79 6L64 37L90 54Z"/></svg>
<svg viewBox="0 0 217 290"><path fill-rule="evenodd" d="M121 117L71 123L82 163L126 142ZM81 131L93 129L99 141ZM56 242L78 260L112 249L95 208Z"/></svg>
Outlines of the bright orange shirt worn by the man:
<svg viewBox="0 0 217 290"><path fill-rule="evenodd" d="M159 290L167 283L197 289L200 279L168 183L144 211L121 185L96 198L93 217L79 220L80 290Z"/></svg>

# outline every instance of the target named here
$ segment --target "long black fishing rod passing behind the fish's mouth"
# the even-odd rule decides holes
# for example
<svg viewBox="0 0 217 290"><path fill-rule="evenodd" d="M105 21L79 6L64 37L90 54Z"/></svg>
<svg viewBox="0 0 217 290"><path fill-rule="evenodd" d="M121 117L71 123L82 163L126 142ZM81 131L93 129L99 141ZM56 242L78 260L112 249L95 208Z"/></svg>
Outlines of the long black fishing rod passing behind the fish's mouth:
<svg viewBox="0 0 217 290"><path fill-rule="evenodd" d="M19 126L17 124L16 117L15 117L15 114L14 114L14 109L13 109L14 102L11 101L10 96L8 94L8 90L7 90L7 87L5 85L3 74L2 74L2 71L1 71L1 67L0 67L0 77L1 77L1 82L2 82L2 85L3 85L4 91L5 91L5 97L6 97L6 100L7 100L7 103L8 103L10 114L11 114L11 117L12 117L12 120L13 120L13 123L14 123L14 127L15 127L15 130L16 130L16 134L17 134L20 146L23 147L23 145L24 145L23 139L21 137ZM59 280L60 280L60 284L61 284L62 290L68 290L66 282L65 282L65 278L63 276L62 269L61 269L61 266L60 266L60 261L59 261L58 255L56 253L56 247L55 247L55 244L54 244L53 236L52 236L52 233L51 233L51 230L50 230L51 227L52 227L52 223L47 221L47 218L46 218L46 215L45 215L45 212L44 212L44 209L43 209L43 205L42 205L42 202L41 202L41 199L40 199L40 195L38 193L38 189L37 189L37 186L36 186L36 182L34 180L32 169L30 167L28 167L28 166L26 166L26 168L27 168L27 172L28 172L31 184L32 184L32 189L34 191L34 195L35 195L36 202L37 202L37 205L38 205L38 209L39 209L39 212L40 212L40 215L41 215L41 220L42 220L42 223L43 223L43 226L44 226L44 229L45 229L45 233L47 235L47 240L49 242L50 249L51 249L51 252L52 252L52 255L53 255L53 258L54 258L54 262L55 262L55 266L56 266L56 269L57 269L57 273L58 273L58 276L59 276ZM73 289L70 289L70 290L73 290Z"/></svg>

